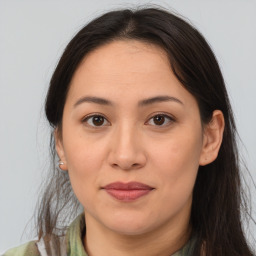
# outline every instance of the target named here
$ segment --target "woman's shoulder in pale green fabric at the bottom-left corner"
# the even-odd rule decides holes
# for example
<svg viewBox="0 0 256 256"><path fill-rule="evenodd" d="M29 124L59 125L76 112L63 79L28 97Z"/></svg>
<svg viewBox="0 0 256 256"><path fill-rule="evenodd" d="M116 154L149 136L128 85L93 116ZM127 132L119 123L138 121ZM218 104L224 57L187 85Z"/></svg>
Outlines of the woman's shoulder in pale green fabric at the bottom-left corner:
<svg viewBox="0 0 256 256"><path fill-rule="evenodd" d="M30 241L20 246L9 249L3 256L40 256L36 241Z"/></svg>

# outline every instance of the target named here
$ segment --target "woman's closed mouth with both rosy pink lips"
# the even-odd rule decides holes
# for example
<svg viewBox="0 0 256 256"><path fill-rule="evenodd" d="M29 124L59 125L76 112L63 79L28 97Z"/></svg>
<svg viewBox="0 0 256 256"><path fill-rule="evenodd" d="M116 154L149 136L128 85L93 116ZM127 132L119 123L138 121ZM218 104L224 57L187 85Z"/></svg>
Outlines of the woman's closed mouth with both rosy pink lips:
<svg viewBox="0 0 256 256"><path fill-rule="evenodd" d="M119 201L130 202L149 194L154 188L139 182L114 182L103 187L110 196Z"/></svg>

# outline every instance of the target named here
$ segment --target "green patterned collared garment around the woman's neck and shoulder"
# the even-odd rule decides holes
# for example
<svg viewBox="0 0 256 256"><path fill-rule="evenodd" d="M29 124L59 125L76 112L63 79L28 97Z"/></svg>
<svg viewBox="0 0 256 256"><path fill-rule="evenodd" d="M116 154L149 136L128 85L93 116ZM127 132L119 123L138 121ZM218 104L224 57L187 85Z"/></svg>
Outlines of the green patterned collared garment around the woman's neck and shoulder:
<svg viewBox="0 0 256 256"><path fill-rule="evenodd" d="M88 256L84 250L82 237L85 231L84 213L80 214L69 226L66 236L60 238L62 256ZM190 256L194 242L190 240L181 250L172 256ZM53 251L51 253L54 255ZM47 256L43 239L30 241L8 250L3 256Z"/></svg>

